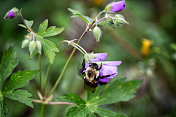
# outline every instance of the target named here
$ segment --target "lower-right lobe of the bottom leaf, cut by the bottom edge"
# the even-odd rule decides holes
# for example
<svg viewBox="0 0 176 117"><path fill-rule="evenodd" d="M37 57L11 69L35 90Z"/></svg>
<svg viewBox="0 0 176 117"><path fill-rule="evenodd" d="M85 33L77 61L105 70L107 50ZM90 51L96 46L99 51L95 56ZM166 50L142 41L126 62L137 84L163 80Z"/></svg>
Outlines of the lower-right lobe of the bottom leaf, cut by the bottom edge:
<svg viewBox="0 0 176 117"><path fill-rule="evenodd" d="M96 113L100 115L100 117L127 117L122 113L116 113L111 110L96 108Z"/></svg>

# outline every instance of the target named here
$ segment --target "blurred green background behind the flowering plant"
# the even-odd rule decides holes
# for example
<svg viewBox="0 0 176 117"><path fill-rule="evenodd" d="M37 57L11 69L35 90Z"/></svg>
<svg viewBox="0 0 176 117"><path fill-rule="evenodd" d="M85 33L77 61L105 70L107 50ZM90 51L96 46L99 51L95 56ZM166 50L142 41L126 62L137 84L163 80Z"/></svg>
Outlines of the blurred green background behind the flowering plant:
<svg viewBox="0 0 176 117"><path fill-rule="evenodd" d="M4 20L3 16L12 7L22 8L25 19L34 20L34 31L39 24L49 19L49 25L65 27L65 31L49 40L58 44L64 39L79 38L85 29L82 19L71 19L67 8L81 11L94 17L103 10L111 0L0 0L0 57L3 51L13 45L17 51L19 65L17 70L38 69L38 58L29 58L28 49L21 49L21 43L27 32L17 24L20 18ZM176 1L175 0L126 0L127 7L120 14L124 15L129 25L118 28L103 26L100 43L96 43L92 33L88 33L81 45L88 52L107 52L108 60L121 60L116 78L143 80L143 84L134 99L129 102L111 104L109 108L124 112L129 117L176 117ZM142 43L148 39L151 46ZM147 46L147 47L146 47ZM148 55L141 52L145 48ZM55 83L72 47L66 44L60 47L49 74L48 90ZM56 98L64 93L74 92L86 98L83 80L79 76L82 55L77 52L60 82L55 93ZM48 59L42 56L43 78ZM15 72L14 71L14 72ZM39 78L36 77L26 87L33 98L38 99ZM8 117L38 117L40 105L34 109L21 103L6 100ZM47 107L47 117L63 117L69 106L58 105Z"/></svg>

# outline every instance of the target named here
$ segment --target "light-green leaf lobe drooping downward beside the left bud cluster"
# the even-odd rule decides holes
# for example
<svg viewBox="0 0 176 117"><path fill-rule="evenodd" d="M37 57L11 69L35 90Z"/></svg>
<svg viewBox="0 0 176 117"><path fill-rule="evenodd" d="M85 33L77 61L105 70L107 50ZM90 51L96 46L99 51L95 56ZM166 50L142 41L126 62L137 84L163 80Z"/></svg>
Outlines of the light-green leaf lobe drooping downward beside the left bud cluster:
<svg viewBox="0 0 176 117"><path fill-rule="evenodd" d="M50 63L53 64L54 58L56 56L55 52L59 52L59 49L53 42L47 39L43 39L40 37L38 38L38 40L41 41L45 55L48 57Z"/></svg>

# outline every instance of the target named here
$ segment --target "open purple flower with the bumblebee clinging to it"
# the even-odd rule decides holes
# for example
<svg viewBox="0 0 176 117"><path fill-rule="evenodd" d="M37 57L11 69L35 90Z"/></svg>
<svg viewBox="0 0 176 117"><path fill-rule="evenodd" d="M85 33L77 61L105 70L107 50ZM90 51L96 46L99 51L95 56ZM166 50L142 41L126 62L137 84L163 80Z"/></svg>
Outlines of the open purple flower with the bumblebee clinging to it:
<svg viewBox="0 0 176 117"><path fill-rule="evenodd" d="M94 58L91 58L92 63L97 63L99 67L102 64L102 67L99 73L99 76L100 76L99 81L103 83L108 83L112 78L114 78L118 74L117 66L119 66L122 62L121 61L104 61L107 58L107 53L96 53L93 55L94 55ZM86 62L85 69L87 69L90 64ZM101 77L105 77L105 78L101 78ZM101 84L98 84L98 85L101 85Z"/></svg>

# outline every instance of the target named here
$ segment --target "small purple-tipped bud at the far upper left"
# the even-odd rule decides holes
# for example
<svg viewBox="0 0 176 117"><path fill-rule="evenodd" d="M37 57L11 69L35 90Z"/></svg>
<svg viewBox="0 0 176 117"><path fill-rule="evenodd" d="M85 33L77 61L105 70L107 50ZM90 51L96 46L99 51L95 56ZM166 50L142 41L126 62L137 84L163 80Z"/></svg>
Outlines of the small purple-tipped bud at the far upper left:
<svg viewBox="0 0 176 117"><path fill-rule="evenodd" d="M6 15L4 16L4 19L13 19L18 14L18 12L19 10L14 7L6 13Z"/></svg>

